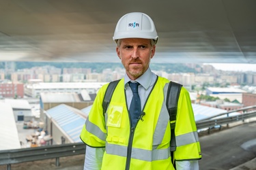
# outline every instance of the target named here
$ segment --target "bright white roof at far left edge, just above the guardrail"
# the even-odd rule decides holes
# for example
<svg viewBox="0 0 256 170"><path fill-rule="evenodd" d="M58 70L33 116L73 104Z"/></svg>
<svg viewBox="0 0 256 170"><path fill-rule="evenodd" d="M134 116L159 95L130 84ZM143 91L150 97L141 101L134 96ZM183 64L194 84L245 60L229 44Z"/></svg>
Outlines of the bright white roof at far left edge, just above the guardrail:
<svg viewBox="0 0 256 170"><path fill-rule="evenodd" d="M0 114L0 150L20 149L20 140L18 139L12 106L9 103L0 102Z"/></svg>

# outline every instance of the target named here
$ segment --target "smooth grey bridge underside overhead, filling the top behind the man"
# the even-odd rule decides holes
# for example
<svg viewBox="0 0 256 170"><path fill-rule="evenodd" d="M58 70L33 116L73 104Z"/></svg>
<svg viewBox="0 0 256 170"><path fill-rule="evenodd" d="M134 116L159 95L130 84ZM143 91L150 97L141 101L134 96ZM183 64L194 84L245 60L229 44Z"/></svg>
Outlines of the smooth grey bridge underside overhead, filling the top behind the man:
<svg viewBox="0 0 256 170"><path fill-rule="evenodd" d="M154 20L154 63L256 63L255 0L0 0L0 61L119 62L128 12Z"/></svg>

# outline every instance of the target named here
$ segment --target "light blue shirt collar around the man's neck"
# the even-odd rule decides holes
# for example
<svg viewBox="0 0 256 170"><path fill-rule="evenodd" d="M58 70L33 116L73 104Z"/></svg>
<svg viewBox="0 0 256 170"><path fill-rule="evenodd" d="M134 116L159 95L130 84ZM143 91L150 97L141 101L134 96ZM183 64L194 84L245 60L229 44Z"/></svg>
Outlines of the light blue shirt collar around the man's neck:
<svg viewBox="0 0 256 170"><path fill-rule="evenodd" d="M143 73L143 75L141 75L139 78L137 78L137 80L130 80L130 78L128 77L127 73L125 73L124 75L124 88L126 88L126 86L128 85L128 82L139 82L139 84L141 84L141 86L143 86L143 88L145 88L147 90L147 88L150 87L150 83L152 82L152 77L154 76L154 74L152 73L150 67L147 69L147 71L145 71L145 73Z"/></svg>

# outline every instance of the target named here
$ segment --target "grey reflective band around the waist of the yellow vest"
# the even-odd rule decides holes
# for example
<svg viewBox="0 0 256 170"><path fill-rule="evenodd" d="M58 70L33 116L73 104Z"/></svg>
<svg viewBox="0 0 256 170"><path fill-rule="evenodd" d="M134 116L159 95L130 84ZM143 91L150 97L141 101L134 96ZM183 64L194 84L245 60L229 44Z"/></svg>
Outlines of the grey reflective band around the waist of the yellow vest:
<svg viewBox="0 0 256 170"><path fill-rule="evenodd" d="M117 156L127 156L127 147L106 143L106 154L113 154ZM169 148L160 150L142 150L132 148L131 158L145 160L151 162L152 160L163 160L170 156Z"/></svg>

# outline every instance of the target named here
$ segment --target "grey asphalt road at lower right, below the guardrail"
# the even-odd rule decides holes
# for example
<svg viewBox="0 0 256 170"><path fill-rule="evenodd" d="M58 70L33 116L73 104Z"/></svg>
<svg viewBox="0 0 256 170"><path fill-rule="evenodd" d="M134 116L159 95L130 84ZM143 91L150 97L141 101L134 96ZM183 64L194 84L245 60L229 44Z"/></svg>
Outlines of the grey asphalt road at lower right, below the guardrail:
<svg viewBox="0 0 256 170"><path fill-rule="evenodd" d="M201 142L203 170L228 170L256 157L256 122L205 135ZM255 167L256 168L256 167Z"/></svg>

